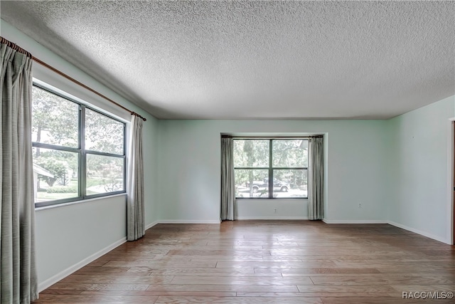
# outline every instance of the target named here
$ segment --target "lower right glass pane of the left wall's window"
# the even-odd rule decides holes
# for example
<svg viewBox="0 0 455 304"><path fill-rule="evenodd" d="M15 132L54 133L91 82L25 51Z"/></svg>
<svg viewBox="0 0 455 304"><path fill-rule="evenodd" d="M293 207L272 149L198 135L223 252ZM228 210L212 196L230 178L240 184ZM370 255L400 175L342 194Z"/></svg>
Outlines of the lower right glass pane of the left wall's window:
<svg viewBox="0 0 455 304"><path fill-rule="evenodd" d="M123 191L124 159L87 154L87 195Z"/></svg>

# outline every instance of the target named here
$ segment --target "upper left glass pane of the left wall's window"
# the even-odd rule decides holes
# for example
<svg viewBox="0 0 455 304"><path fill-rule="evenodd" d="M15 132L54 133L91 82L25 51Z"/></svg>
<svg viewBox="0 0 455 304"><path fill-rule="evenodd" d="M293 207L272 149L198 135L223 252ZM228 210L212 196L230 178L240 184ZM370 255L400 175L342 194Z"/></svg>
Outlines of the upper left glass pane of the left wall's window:
<svg viewBox="0 0 455 304"><path fill-rule="evenodd" d="M41 88L32 90L32 141L78 147L79 105Z"/></svg>

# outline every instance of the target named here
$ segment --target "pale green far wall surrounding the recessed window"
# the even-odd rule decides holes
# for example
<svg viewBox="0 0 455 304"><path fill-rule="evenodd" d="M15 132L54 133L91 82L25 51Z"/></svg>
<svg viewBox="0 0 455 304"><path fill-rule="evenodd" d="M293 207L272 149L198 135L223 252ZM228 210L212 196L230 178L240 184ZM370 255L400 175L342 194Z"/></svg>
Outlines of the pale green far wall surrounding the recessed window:
<svg viewBox="0 0 455 304"><path fill-rule="evenodd" d="M385 120L160 120L158 183L163 204L159 218L219 219L220 133L308 132L326 134L326 220L384 221L386 124ZM277 217L295 216L294 207L299 206L304 213L298 215L307 216L306 202L295 201L284 210L287 213ZM269 209L273 208L258 205L257 216L270 216Z"/></svg>

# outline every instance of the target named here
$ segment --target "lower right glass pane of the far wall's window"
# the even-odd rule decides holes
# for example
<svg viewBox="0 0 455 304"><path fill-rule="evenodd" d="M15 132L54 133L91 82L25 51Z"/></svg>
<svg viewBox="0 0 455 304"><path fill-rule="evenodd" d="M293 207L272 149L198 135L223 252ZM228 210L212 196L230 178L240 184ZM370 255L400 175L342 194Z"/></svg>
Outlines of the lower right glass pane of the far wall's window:
<svg viewBox="0 0 455 304"><path fill-rule="evenodd" d="M308 197L307 169L273 170L274 197Z"/></svg>

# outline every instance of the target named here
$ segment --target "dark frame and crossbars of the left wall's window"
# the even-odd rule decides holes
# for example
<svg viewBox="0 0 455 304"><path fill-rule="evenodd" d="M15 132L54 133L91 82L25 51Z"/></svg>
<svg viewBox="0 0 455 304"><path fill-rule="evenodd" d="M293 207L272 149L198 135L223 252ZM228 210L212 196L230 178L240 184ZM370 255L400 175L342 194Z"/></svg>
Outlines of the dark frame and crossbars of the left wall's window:
<svg viewBox="0 0 455 304"><path fill-rule="evenodd" d="M65 93L60 93L60 92L53 90L52 88L49 88L46 85L38 83L34 80L33 80L33 87L44 90L50 94L57 95L60 98L63 98L72 103L75 103L79 107L78 120L77 120L78 147L66 147L66 146L62 146L62 145L45 144L43 142L33 142L32 141L33 148L43 148L43 149L63 151L63 152L75 152L78 154L77 158L79 161L79 166L77 168L77 176L78 176L77 196L70 197L67 199L55 199L52 201L35 202L35 208L44 207L44 206L60 205L60 204L66 204L66 203L75 202L75 201L82 201L85 199L95 199L98 197L112 196L112 195L116 195L116 194L126 193L127 192L127 184L126 184L126 182L127 182L127 123L123 122L122 120L119 120L118 118L113 117L112 115L109 115L107 112L101 112L100 110L90 107L90 105L81 103L80 101L75 100L74 98L71 98L69 95L65 95ZM97 114L104 115L106 117L109 117L112 120L122 123L122 125L123 125L123 151L122 151L122 153L123 154L113 154L113 153L98 152L95 150L86 150L85 149L85 110L86 109L92 110L93 112L96 112ZM31 112L32 112L32 119L33 119L33 110ZM87 154L95 154L95 155L101 155L101 156L107 156L107 157L117 157L119 159L123 159L123 172L122 172L123 173L123 180L122 180L123 189L119 190L119 191L114 191L114 192L87 195Z"/></svg>

